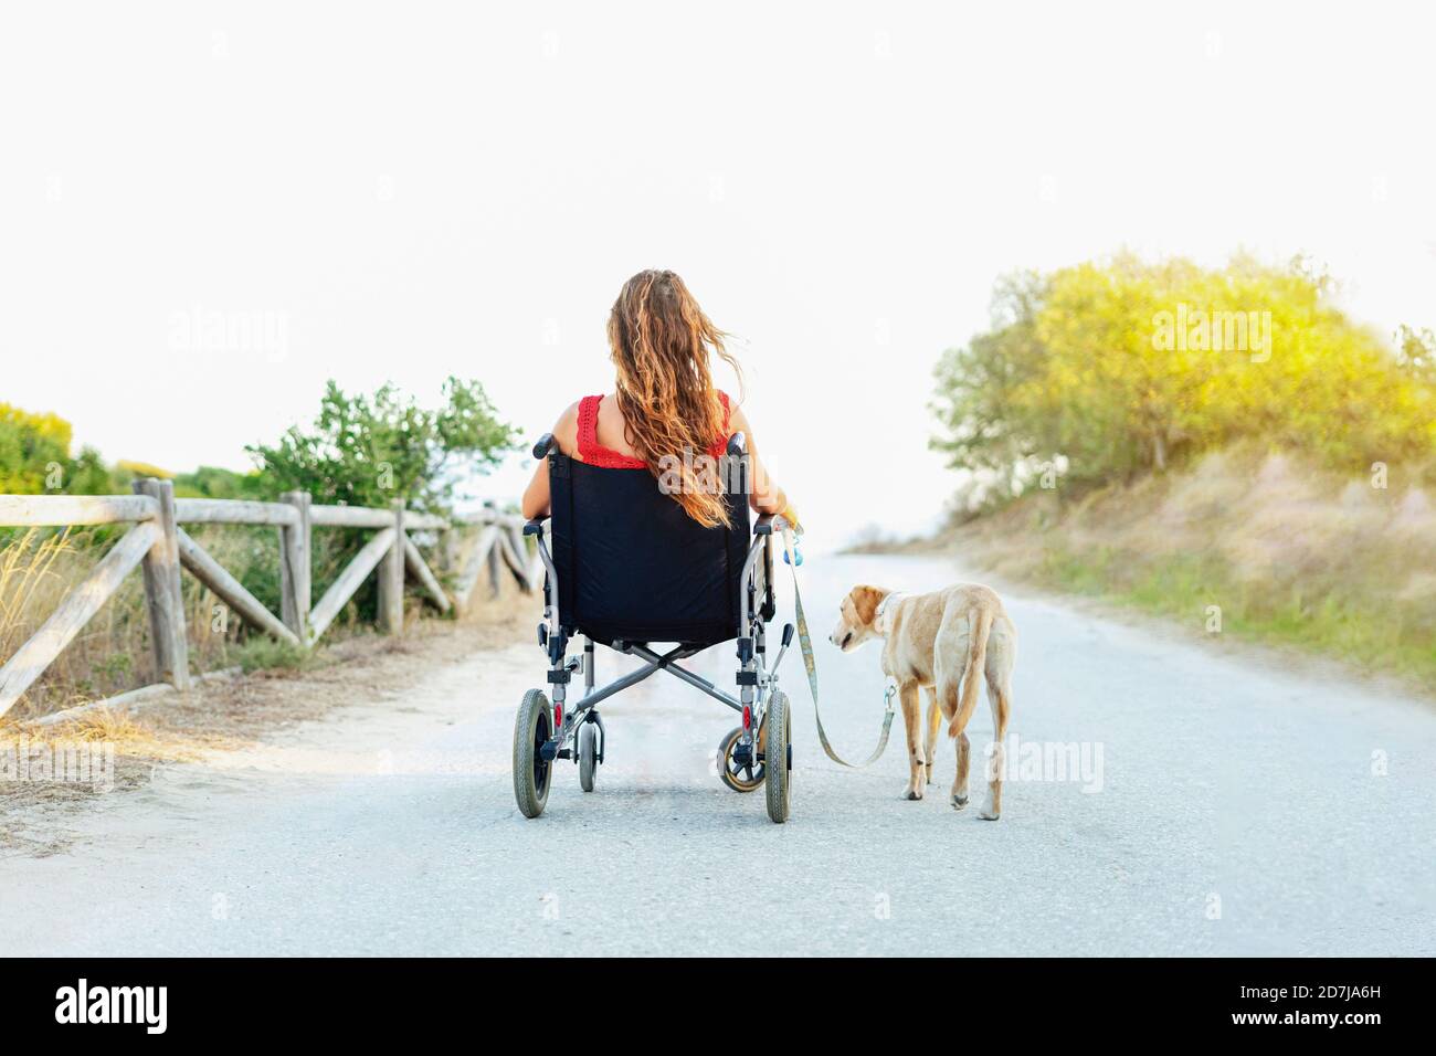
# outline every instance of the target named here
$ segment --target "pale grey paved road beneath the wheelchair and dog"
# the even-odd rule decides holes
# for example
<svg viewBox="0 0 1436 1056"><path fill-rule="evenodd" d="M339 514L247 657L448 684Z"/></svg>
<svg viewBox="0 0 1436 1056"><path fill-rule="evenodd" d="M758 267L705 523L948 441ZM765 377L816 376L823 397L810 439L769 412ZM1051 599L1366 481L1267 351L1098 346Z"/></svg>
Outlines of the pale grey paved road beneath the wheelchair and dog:
<svg viewBox="0 0 1436 1056"><path fill-rule="evenodd" d="M856 580L962 578L905 557L804 572L819 635ZM839 772L796 657L788 825L767 820L761 792L711 776L731 713L666 677L606 708L597 792L564 766L547 813L526 820L510 738L541 657L516 647L434 671L402 710L358 701L106 797L69 852L0 861L0 951L1436 953L1429 703L1050 601L1010 596L1010 611L1012 733L1086 744L1090 769L1010 783L998 823L948 806L951 746L935 795L900 797L900 721L879 764ZM820 648L830 734L866 753L876 647ZM728 681L728 648L701 659ZM975 746L989 728L979 707Z"/></svg>

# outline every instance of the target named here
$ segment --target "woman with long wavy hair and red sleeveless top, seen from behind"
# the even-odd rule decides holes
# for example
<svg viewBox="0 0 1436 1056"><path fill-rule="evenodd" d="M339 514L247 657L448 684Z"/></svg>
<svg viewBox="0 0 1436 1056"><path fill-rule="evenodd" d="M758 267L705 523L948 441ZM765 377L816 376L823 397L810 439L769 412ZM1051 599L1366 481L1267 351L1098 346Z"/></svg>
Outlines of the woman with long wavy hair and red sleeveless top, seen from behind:
<svg viewBox="0 0 1436 1056"><path fill-rule="evenodd" d="M609 313L615 391L584 397L559 417L553 427L559 448L593 466L648 470L689 517L712 527L725 520L724 496L712 463L702 455L717 458L728 437L742 432L752 457L748 501L758 513L791 516L787 496L758 460L742 408L714 388L714 353L738 371L722 339L682 279L672 272L639 272L623 283ZM541 460L524 491L524 517L547 516L549 504L549 460Z"/></svg>

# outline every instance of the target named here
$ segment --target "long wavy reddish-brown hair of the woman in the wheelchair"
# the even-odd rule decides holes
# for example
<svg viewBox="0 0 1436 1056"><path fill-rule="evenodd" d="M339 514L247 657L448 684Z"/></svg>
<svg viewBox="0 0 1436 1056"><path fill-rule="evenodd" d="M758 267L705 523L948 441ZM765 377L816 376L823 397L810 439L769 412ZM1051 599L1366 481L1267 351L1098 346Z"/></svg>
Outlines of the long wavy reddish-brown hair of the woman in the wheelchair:
<svg viewBox="0 0 1436 1056"><path fill-rule="evenodd" d="M639 272L623 283L609 313L625 438L655 477L679 474L678 487L665 490L704 527L728 520L724 474L705 473L701 461L724 428L712 356L742 378L724 348L727 336L672 272Z"/></svg>

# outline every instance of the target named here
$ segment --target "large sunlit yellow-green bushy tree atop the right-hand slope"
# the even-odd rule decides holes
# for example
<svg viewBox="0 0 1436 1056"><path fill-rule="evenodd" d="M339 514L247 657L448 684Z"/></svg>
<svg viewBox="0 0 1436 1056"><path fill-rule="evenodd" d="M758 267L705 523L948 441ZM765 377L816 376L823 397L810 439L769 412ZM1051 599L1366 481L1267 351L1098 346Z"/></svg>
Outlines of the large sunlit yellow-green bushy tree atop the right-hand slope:
<svg viewBox="0 0 1436 1056"><path fill-rule="evenodd" d="M1347 470L1436 454L1436 342L1400 348L1304 260L1130 254L998 283L992 325L938 366L933 447L1012 494L1034 458L1100 484L1239 440Z"/></svg>

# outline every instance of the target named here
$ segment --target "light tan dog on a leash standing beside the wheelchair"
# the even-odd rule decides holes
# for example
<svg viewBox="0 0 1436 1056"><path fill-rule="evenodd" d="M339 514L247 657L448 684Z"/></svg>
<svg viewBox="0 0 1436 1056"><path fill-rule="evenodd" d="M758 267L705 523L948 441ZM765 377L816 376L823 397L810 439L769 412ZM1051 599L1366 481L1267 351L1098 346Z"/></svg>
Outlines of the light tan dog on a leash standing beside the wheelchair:
<svg viewBox="0 0 1436 1056"><path fill-rule="evenodd" d="M1002 743L1012 714L1012 664L1017 628L997 592L958 583L932 593L898 593L880 586L854 586L839 609L829 635L843 652L873 638L883 639L883 674L898 682L903 724L908 727L908 799L922 799L936 761L939 714L956 738L958 776L952 806L968 805L968 720L978 705L978 680L987 680L992 708L994 749L988 766L988 797L979 818L995 822L1002 813ZM928 691L928 736L922 738L918 690Z"/></svg>

